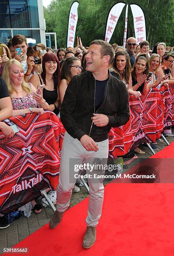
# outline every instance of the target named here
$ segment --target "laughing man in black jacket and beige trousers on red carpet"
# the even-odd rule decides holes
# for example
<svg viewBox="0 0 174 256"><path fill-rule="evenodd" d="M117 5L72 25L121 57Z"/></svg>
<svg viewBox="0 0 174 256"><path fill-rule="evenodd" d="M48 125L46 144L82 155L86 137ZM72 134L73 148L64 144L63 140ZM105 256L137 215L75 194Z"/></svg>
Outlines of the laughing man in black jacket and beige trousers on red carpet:
<svg viewBox="0 0 174 256"><path fill-rule="evenodd" d="M96 161L103 166L107 164L111 127L119 127L129 120L126 85L108 72L112 59L113 48L110 44L102 40L92 41L86 54L86 72L73 77L61 107L61 121L66 133L61 151L57 210L51 217L50 228L61 222L63 212L69 207L78 175L74 172L78 172L82 164L83 167L89 164L91 169L87 168L86 173L90 200L83 248L90 248L96 241L96 226L103 204L102 174L105 170L91 170L95 169ZM101 178L95 179L94 173L101 174Z"/></svg>

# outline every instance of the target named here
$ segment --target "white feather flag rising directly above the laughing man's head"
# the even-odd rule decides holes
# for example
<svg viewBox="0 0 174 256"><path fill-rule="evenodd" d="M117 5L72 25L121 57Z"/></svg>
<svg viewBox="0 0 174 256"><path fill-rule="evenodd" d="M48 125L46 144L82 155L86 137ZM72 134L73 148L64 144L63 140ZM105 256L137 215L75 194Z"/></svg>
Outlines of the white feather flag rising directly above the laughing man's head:
<svg viewBox="0 0 174 256"><path fill-rule="evenodd" d="M114 5L108 15L108 21L106 24L106 32L105 32L105 41L109 43L111 40L113 31L116 27L117 21L120 17L120 14L124 8L125 3L117 3Z"/></svg>

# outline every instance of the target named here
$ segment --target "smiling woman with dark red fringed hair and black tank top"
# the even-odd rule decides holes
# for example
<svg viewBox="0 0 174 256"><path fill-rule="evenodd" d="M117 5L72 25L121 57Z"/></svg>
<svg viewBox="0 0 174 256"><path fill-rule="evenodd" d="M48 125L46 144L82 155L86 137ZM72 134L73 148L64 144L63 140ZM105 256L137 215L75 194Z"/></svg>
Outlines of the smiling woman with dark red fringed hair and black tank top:
<svg viewBox="0 0 174 256"><path fill-rule="evenodd" d="M29 82L31 82L36 89L40 84L44 84L43 98L49 104L49 110L56 115L59 113L59 93L58 83L60 80L60 67L56 54L47 52L42 59L42 73L34 74Z"/></svg>

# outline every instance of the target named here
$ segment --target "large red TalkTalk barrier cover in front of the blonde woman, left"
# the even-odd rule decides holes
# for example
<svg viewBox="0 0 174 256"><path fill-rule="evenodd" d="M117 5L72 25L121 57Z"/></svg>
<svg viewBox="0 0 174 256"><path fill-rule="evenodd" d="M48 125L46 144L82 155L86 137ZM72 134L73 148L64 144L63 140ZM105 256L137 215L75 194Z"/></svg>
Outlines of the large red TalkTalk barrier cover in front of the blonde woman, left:
<svg viewBox="0 0 174 256"><path fill-rule="evenodd" d="M0 133L0 216L32 201L47 187L58 185L63 125L51 111L4 121L17 125L13 138Z"/></svg>

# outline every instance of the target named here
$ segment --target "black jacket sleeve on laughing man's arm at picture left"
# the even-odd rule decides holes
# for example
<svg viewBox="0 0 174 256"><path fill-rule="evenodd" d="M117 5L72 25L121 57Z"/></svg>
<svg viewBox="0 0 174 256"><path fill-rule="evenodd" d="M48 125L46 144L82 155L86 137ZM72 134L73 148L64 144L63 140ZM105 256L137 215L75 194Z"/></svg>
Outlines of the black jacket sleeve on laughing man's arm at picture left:
<svg viewBox="0 0 174 256"><path fill-rule="evenodd" d="M76 108L76 102L78 98L79 90L78 77L74 76L71 79L71 82L68 84L68 87L63 98L61 105L61 122L63 123L66 131L73 138L81 139L86 133L77 125L76 121L73 118L73 112Z"/></svg>

